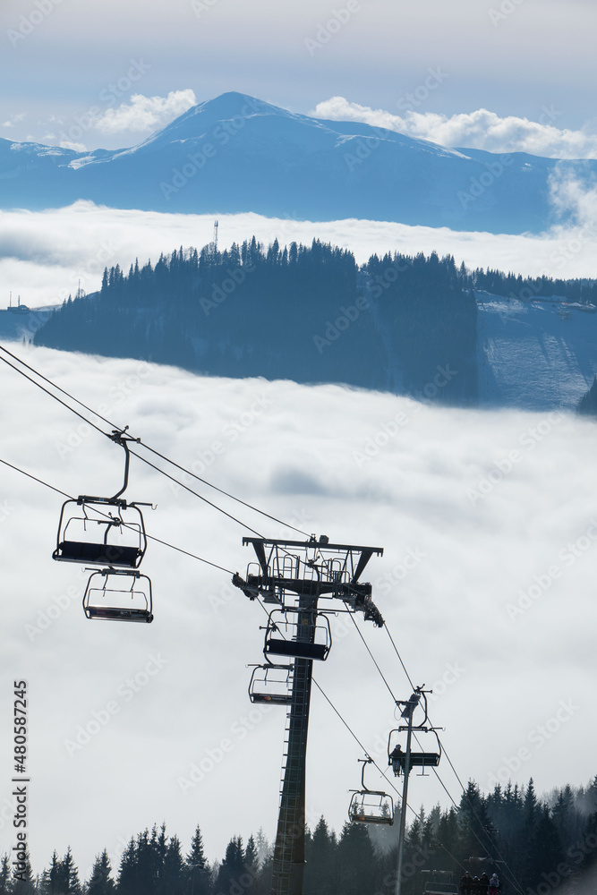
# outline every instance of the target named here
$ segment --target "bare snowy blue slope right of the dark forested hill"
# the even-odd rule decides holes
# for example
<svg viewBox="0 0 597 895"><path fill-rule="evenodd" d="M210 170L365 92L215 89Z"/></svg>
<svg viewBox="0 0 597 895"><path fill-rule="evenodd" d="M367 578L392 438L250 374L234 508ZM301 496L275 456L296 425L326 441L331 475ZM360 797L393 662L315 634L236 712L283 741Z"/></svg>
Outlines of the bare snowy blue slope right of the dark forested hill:
<svg viewBox="0 0 597 895"><path fill-rule="evenodd" d="M597 373L597 308L476 292L479 404L572 409Z"/></svg>

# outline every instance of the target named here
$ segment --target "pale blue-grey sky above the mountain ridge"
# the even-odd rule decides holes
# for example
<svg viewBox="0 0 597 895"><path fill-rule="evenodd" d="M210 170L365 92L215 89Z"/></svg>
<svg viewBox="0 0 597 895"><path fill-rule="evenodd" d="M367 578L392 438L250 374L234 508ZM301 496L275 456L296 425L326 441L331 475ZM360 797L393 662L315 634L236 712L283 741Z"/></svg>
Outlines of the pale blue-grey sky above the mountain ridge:
<svg viewBox="0 0 597 895"><path fill-rule="evenodd" d="M116 148L226 90L593 135L596 25L591 0L4 0L0 135Z"/></svg>

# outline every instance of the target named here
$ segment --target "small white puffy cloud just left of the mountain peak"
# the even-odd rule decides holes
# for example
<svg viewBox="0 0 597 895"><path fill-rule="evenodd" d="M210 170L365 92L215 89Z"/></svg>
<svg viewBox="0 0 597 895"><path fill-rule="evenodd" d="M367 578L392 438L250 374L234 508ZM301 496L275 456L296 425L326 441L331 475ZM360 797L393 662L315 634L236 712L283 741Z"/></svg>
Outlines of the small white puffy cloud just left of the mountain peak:
<svg viewBox="0 0 597 895"><path fill-rule="evenodd" d="M195 106L192 90L172 90L166 97L145 97L134 93L130 102L108 108L93 120L93 127L102 133L148 132L158 130Z"/></svg>

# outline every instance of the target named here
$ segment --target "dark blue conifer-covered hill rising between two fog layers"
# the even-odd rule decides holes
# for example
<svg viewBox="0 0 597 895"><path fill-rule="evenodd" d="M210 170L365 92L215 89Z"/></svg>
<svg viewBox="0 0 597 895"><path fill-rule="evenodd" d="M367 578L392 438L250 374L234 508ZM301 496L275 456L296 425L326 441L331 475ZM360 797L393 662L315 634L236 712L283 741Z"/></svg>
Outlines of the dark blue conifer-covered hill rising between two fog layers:
<svg viewBox="0 0 597 895"><path fill-rule="evenodd" d="M317 240L266 249L253 238L223 252L173 251L128 275L106 270L101 292L64 303L35 342L468 403L475 320L451 257L373 256L359 269L350 251Z"/></svg>

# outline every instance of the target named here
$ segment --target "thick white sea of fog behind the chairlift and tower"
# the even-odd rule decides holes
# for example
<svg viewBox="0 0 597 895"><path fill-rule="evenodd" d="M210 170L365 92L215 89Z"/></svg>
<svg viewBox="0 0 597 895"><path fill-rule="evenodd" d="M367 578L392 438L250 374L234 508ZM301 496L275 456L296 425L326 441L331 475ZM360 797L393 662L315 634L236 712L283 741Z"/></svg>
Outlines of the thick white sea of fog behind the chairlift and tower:
<svg viewBox="0 0 597 895"><path fill-rule="evenodd" d="M530 757L511 776L526 782L533 775L539 792L593 778L594 682L587 669L594 662L597 546L586 543L597 486L592 423L567 415L554 423L537 413L433 409L359 389L211 379L46 349L30 350L25 360L86 404L103 405L116 425L129 423L134 436L183 465L194 464L208 480L272 515L298 518L303 531L328 534L330 541L384 547L383 558L371 559L366 580L411 676L436 691L431 719L446 727L442 737L463 780L474 778L486 788L490 774L504 769L504 756L523 746ZM74 495L119 487L122 451L0 368L2 457ZM252 419L258 397L263 413ZM357 465L354 452L387 433L384 424L398 413L408 422L389 429L394 434L380 439L376 456ZM236 428L233 439L238 421L243 430ZM224 450L209 457L214 440ZM497 474L513 450L521 461ZM318 486L311 493L300 485L307 469ZM489 476L497 483L473 504L467 490ZM282 481L284 491L277 484ZM134 459L127 495L158 504L146 516L149 533L158 538L241 573L252 560L241 526L191 495L175 494ZM246 841L263 825L271 839L285 712L272 709L249 720L256 706L246 695L246 665L261 659L260 607L237 592L225 572L151 543L142 571L154 585L154 623L87 621L85 576L50 558L61 503L0 466L1 581L10 594L0 666L3 679L17 674L30 687L34 871L41 872L54 848L62 855L71 844L87 875L102 848L114 854L121 842L162 820L180 836L183 851L200 823L212 861L223 857L233 834ZM225 507L269 537L296 537L258 521L246 507ZM410 570L404 565L409 550L423 554ZM535 577L545 581L554 564L562 574L548 575L537 592ZM511 619L507 604L518 601L528 608ZM395 726L395 706L352 625L345 617L332 624L332 652L314 674L375 754ZM369 625L362 630L397 697L407 698L410 686L386 632ZM148 680L142 672L151 654L167 663ZM462 670L442 685L448 665ZM124 682L138 674L139 692L124 696ZM520 699L521 692L533 698ZM10 692L2 698L8 717ZM578 709L555 730L549 726L542 746L536 736L529 742L569 700ZM114 702L118 711L106 720L107 703ZM325 814L339 831L362 753L318 692L311 711L307 805L314 823ZM487 737L490 715L500 722ZM90 724L97 717L106 722ZM475 719L474 730L463 719ZM64 741L88 725L90 742L69 756ZM225 738L232 744L226 753L220 749ZM6 761L7 749L8 743ZM213 769L183 796L176 778L204 759L209 768L207 750ZM567 760L571 753L574 763ZM445 761L439 772L457 802L460 791ZM372 774L370 786L375 781ZM446 804L433 776L414 777L412 787L414 805ZM9 793L6 782L3 804ZM4 823L0 853L12 847L13 827Z"/></svg>

